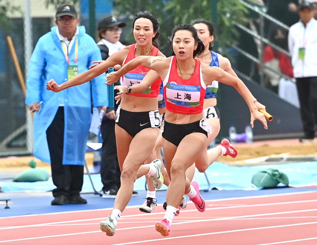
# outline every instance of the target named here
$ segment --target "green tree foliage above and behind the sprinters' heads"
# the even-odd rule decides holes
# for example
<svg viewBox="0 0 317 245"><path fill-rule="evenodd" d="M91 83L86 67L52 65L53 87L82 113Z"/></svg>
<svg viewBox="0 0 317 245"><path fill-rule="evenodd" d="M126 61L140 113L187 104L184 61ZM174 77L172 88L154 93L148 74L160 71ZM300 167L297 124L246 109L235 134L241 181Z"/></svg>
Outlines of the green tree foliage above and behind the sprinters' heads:
<svg viewBox="0 0 317 245"><path fill-rule="evenodd" d="M160 41L162 51L170 54L168 36L171 35L171 30L175 25L192 23L195 19L203 18L211 20L211 1L216 0L114 0L114 9L117 15L128 16L132 26L132 19L136 12L148 10L154 14L160 21ZM237 32L232 21L244 24L247 22L248 10L236 0L218 0L217 5L218 20L217 20L217 46L225 52L226 43L236 43L239 33ZM134 38L129 31L126 35L126 41L133 43Z"/></svg>

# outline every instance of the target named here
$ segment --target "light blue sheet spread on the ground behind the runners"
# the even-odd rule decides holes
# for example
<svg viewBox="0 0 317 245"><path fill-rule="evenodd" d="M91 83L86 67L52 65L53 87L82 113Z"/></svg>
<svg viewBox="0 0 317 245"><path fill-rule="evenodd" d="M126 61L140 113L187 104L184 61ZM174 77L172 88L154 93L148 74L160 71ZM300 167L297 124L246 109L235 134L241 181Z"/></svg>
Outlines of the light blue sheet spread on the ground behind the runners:
<svg viewBox="0 0 317 245"><path fill-rule="evenodd" d="M211 188L218 190L257 190L251 185L252 176L260 170L275 168L285 173L289 179L289 186L311 186L317 185L317 162L299 162L277 165L261 166L228 166L226 164L215 162L206 171L210 181ZM91 175L94 187L97 191L102 189L100 174ZM194 180L196 180L201 189L207 189L208 183L204 173L196 170ZM0 182L2 192L47 192L55 188L51 179L38 182ZM165 185L163 190L167 189ZM145 178L137 179L134 183L134 190L145 190ZM82 192L92 192L92 185L87 175L84 176Z"/></svg>

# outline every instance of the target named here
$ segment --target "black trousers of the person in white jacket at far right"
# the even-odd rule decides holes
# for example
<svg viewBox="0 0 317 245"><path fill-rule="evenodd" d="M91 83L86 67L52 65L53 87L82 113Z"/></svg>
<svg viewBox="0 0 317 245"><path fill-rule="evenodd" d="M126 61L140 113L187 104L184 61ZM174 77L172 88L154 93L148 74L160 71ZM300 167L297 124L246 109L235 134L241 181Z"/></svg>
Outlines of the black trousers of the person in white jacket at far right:
<svg viewBox="0 0 317 245"><path fill-rule="evenodd" d="M317 124L317 77L296 78L296 86L305 137L313 138Z"/></svg>

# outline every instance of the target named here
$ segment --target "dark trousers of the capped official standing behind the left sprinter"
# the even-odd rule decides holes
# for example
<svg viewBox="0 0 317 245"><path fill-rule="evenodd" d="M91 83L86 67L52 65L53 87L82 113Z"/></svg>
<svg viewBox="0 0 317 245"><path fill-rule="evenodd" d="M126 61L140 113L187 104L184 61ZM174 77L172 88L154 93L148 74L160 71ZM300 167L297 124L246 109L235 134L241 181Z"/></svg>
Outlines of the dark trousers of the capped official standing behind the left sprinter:
<svg viewBox="0 0 317 245"><path fill-rule="evenodd" d="M120 188L120 167L117 156L116 137L114 134L115 120L103 117L101 122L101 135L103 139L101 148L100 176L103 191Z"/></svg>

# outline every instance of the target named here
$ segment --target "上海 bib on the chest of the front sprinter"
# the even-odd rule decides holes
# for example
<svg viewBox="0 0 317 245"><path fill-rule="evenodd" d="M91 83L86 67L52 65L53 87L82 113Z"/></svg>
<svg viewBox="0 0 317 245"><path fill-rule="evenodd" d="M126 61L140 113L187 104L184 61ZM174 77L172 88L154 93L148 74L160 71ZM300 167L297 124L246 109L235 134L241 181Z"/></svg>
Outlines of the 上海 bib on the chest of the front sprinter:
<svg viewBox="0 0 317 245"><path fill-rule="evenodd" d="M168 102L182 106L199 106L200 86L166 84L166 99Z"/></svg>

